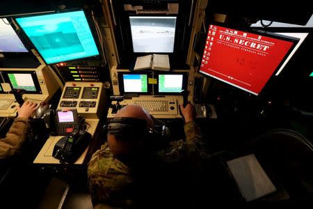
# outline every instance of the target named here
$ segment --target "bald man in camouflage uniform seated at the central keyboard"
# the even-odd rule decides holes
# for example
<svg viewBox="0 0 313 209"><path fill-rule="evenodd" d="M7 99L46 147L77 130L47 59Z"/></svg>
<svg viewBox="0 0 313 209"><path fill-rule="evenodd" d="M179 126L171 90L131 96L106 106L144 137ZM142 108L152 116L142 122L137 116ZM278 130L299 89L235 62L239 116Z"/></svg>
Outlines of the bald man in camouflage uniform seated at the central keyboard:
<svg viewBox="0 0 313 209"><path fill-rule="evenodd" d="M153 151L147 134L114 134L93 154L88 164L90 194L95 208L109 206L169 206L193 201L199 190L202 165L208 159L199 127L193 121L193 105L182 107L186 141L171 141L167 148ZM148 128L154 121L138 105L127 105L115 118L138 118ZM184 200L184 201L182 201ZM186 205L185 205L186 206Z"/></svg>

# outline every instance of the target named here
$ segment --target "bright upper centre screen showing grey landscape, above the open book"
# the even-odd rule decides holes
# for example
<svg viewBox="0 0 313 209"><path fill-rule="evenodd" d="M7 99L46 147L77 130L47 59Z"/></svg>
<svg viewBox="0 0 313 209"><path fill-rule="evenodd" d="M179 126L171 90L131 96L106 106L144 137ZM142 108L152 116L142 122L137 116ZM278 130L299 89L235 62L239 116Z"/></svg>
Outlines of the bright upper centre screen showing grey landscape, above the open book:
<svg viewBox="0 0 313 209"><path fill-rule="evenodd" d="M177 17L130 16L135 53L174 52Z"/></svg>

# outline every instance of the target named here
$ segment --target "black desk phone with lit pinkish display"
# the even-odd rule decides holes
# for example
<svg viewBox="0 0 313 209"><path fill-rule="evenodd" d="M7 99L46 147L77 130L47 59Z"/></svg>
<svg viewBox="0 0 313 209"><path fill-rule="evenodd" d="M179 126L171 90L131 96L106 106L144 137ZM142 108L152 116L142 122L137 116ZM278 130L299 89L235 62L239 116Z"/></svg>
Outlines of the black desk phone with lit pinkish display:
<svg viewBox="0 0 313 209"><path fill-rule="evenodd" d="M44 121L46 127L51 130L51 135L68 136L79 131L82 118L77 114L77 109L49 109L45 112Z"/></svg>

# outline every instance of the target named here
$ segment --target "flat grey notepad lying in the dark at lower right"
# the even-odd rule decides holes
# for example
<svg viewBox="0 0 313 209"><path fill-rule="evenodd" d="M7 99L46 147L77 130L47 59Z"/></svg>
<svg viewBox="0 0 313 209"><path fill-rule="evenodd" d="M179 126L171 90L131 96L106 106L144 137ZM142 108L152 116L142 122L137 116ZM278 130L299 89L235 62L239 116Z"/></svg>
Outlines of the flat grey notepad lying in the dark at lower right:
<svg viewBox="0 0 313 209"><path fill-rule="evenodd" d="M227 161L227 165L246 201L258 199L276 191L255 155L246 155Z"/></svg>

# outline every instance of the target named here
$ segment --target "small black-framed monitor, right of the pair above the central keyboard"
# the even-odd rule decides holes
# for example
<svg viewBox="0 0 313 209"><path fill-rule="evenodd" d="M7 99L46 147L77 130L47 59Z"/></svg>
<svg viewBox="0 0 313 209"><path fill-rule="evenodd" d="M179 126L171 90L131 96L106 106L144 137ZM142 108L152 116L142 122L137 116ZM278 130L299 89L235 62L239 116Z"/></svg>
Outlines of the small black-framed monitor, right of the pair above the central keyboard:
<svg viewBox="0 0 313 209"><path fill-rule="evenodd" d="M156 72L157 88L154 88L155 94L180 94L187 88L187 72Z"/></svg>

